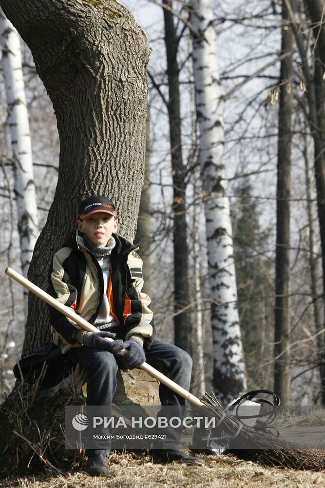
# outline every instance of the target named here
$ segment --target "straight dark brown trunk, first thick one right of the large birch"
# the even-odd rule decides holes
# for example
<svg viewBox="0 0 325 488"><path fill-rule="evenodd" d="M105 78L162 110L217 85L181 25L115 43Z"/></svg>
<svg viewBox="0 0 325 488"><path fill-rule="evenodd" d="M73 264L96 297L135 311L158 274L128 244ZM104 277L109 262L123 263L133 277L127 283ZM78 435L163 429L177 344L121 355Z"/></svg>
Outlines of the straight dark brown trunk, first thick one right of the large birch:
<svg viewBox="0 0 325 488"><path fill-rule="evenodd" d="M288 20L282 5L283 23ZM281 54L292 50L293 33L282 28ZM281 61L278 132L276 257L275 257L275 330L274 391L283 405L290 403L290 171L291 171L291 78L292 55Z"/></svg>

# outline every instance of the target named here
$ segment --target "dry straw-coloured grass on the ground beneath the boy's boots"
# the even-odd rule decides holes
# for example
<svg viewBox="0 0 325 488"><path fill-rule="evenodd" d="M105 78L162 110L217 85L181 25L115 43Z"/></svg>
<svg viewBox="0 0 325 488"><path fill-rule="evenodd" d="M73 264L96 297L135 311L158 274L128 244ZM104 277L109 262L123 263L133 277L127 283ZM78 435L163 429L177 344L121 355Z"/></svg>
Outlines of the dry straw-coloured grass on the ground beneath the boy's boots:
<svg viewBox="0 0 325 488"><path fill-rule="evenodd" d="M325 487L325 473L264 468L232 456L204 456L202 466L153 463L150 456L113 453L110 476L89 477L69 472L48 477L25 477L2 481L3 487L21 488L268 488Z"/></svg>

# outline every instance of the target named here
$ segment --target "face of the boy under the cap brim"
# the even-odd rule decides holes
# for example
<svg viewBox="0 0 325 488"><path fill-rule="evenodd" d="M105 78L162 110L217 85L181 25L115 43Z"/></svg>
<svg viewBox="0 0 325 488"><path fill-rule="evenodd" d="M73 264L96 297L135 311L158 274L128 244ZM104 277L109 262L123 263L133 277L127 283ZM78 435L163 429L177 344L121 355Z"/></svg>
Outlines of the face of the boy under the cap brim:
<svg viewBox="0 0 325 488"><path fill-rule="evenodd" d="M106 246L112 234L116 232L118 220L107 212L98 212L78 220L78 229L86 234L96 245Z"/></svg>

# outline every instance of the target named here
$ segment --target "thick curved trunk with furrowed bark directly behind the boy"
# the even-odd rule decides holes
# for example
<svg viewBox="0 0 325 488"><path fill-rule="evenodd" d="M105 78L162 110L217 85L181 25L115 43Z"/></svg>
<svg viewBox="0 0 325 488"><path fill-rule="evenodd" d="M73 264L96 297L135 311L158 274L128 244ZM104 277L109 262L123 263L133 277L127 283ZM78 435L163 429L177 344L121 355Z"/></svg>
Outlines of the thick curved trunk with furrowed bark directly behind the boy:
<svg viewBox="0 0 325 488"><path fill-rule="evenodd" d="M57 188L28 277L47 284L53 253L76 227L78 206L109 195L133 240L145 166L148 39L114 0L0 0L32 51L60 140ZM45 305L30 296L23 354L49 339Z"/></svg>

